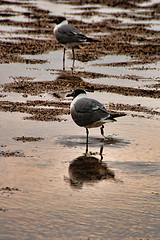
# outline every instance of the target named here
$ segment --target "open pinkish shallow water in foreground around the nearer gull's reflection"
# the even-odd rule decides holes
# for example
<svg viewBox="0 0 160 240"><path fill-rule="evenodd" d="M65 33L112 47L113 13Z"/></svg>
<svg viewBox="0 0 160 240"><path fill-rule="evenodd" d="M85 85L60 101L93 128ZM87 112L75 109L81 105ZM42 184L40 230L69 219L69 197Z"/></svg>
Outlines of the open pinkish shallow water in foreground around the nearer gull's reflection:
<svg viewBox="0 0 160 240"><path fill-rule="evenodd" d="M106 125L106 135L114 140L111 144L99 140L97 129L91 130L89 151L100 159L103 145L103 162L114 171L115 179L75 186L69 181L68 168L85 152L84 129L73 125L70 117L65 123L44 123L22 121L22 116L1 115L1 130L5 129L1 140L7 145L1 149L18 149L25 155L1 158L1 186L20 190L13 195L1 191L1 207L8 209L1 214L1 239L11 235L14 239L158 239L158 122L125 117ZM40 136L44 141L13 139L22 135Z"/></svg>

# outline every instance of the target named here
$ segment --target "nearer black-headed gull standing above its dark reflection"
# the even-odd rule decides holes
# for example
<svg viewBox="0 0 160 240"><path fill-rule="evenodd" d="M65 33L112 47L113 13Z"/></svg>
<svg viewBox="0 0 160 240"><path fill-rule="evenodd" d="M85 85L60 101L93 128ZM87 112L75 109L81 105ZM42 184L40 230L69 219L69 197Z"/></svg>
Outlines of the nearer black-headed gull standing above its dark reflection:
<svg viewBox="0 0 160 240"><path fill-rule="evenodd" d="M70 105L73 121L80 127L86 128L88 144L88 128L100 127L104 137L104 125L108 122L116 121L115 118L125 116L124 113L108 113L104 105L95 99L87 98L83 89L76 89L66 97L73 97ZM105 137L104 137L105 138Z"/></svg>

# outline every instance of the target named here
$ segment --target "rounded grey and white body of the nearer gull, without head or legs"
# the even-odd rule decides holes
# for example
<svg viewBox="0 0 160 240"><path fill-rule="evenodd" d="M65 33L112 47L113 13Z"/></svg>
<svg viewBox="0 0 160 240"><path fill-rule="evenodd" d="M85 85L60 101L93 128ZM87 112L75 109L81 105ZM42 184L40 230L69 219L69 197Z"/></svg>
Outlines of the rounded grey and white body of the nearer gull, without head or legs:
<svg viewBox="0 0 160 240"><path fill-rule="evenodd" d="M110 117L103 104L90 98L79 99L71 109L71 115L79 126L87 126Z"/></svg>

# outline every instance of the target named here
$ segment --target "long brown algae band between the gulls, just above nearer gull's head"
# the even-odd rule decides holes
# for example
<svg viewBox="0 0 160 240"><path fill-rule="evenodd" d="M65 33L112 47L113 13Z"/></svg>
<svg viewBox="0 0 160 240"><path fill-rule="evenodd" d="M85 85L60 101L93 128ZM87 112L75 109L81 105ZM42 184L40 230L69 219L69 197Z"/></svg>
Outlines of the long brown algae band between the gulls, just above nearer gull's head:
<svg viewBox="0 0 160 240"><path fill-rule="evenodd" d="M84 72L82 72L83 76ZM85 82L80 76L80 72L73 74L62 73L54 81L15 81L12 83L4 84L4 92L17 92L17 93L26 93L31 95L41 94L45 92L54 93L54 91L62 91L76 88L84 88L86 90L96 90L96 91L106 91L110 93L122 94L125 96L141 96L141 97L150 97L150 98L160 98L159 90L151 89L140 89L132 87L122 87L122 86L113 86L107 84L91 84ZM94 73L92 73L94 76ZM102 75L103 76L103 75ZM94 77L93 77L94 78ZM131 78L131 77L130 77Z"/></svg>

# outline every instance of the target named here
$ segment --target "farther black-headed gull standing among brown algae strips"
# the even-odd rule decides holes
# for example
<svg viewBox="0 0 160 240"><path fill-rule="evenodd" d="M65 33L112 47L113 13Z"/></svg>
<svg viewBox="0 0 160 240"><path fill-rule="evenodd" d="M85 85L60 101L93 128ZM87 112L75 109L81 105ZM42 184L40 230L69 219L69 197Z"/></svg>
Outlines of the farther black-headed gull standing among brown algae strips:
<svg viewBox="0 0 160 240"><path fill-rule="evenodd" d="M54 34L59 43L64 46L63 53L63 69L65 64L65 50L66 48L72 48L73 54L73 65L75 61L74 48L78 47L81 43L87 42L100 42L99 40L95 40L85 36L81 33L77 28L72 27L68 24L68 21L65 17L57 17L53 23L56 23L54 28Z"/></svg>

